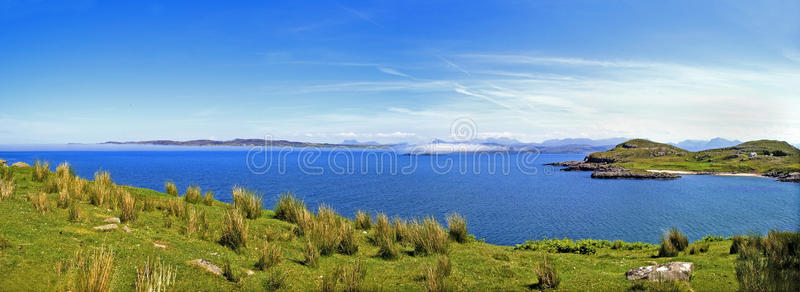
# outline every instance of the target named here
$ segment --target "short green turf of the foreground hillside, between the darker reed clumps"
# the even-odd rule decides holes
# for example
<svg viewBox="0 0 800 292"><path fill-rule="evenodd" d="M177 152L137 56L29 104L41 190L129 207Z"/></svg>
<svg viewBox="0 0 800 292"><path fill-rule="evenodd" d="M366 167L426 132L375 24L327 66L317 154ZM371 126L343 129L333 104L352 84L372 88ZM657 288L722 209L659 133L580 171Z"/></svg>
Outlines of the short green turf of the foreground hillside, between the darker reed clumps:
<svg viewBox="0 0 800 292"><path fill-rule="evenodd" d="M176 291L263 291L275 287L316 291L330 288L325 286L330 284L326 279L362 279L359 275L363 275L363 280L354 280L357 282L355 285L360 290L370 291L436 290L442 287L442 282L449 290L525 291L539 287L536 286L539 283L537 266L545 259L560 278L557 290L563 291L625 290L633 285L625 279L625 271L654 262L672 261L695 263L696 270L690 282L695 291L735 290L738 285L734 272L736 255L728 252L731 247L729 240L709 242L707 252L690 254L687 249L675 257L656 258L658 248L649 244L607 241L578 244L567 240L528 242L514 248L486 244L464 236L458 237L466 239L464 243L445 237L443 253L424 253L418 252L408 239L395 241L392 237L388 240L395 244L395 256L384 259L378 256L385 254L379 247L383 246L380 243L380 224L372 224L366 231L353 230L350 227L356 225L349 219L331 220L349 224L342 226L346 232L340 234L339 239L352 236L352 244L357 250L343 253L341 247L344 243L341 243L340 251L323 255L318 265L309 266L305 264L304 249L312 240L316 242L315 230L322 230L320 226L334 226L325 225L325 221L320 219L324 217L322 214L286 213L291 209L281 209L280 216L272 210L245 212L246 216L255 219L243 219L247 232L242 239L246 243L234 251L220 243L223 230L231 227L231 223L225 221L225 214L231 210L244 210L246 200L237 202L236 209L233 209L232 205L219 201L207 201L210 205L204 201L190 203L184 198L153 190L116 186L102 173L95 181L85 181L71 177L66 170L57 174L37 172L34 168L0 166L0 169L3 169L0 177L6 186L3 189L8 190L8 185L14 186L12 191L0 196L0 290L6 291L80 291L76 287L83 283L81 279L87 277L80 272L82 267L86 267L80 259L100 248L112 253L108 287L113 291L133 290L137 269L148 261L161 262L171 268L175 282L170 289ZM62 176L68 177L69 182L77 187L62 184L59 178ZM101 199L95 192L101 192L104 185L112 187L108 196ZM129 197L133 198L133 204L126 205ZM192 197L195 199L191 201L195 202L196 196ZM198 217L196 214L201 215ZM297 219L298 224L285 221L286 218L303 218L303 214L311 216L307 218L310 221ZM95 226L106 224L103 220L109 217L127 218L128 222L120 223L119 229L108 232L93 230ZM362 216L357 226L367 225L364 219ZM123 231L123 226L131 231ZM392 227L396 226L392 224ZM435 226L431 229L434 233L438 230ZM299 235L303 230L304 235ZM423 231L418 232L421 234ZM656 234L661 232L653 230ZM402 234L407 238L422 236L408 231ZM230 245L230 238L225 242ZM266 271L260 271L255 266L265 243L270 246L270 251L277 247L276 254L282 260ZM585 252L587 249L592 252ZM438 262L445 258L445 254L450 272L442 274L441 278L431 276L442 270L438 268ZM93 263L98 261L97 258L89 257ZM194 259L207 259L220 267L230 263L229 270L240 275L241 279L234 282L187 263ZM358 269L353 269L356 265ZM344 270L335 274L340 267ZM247 270L254 273L247 275ZM344 282L339 283L335 290L343 289L344 285Z"/></svg>

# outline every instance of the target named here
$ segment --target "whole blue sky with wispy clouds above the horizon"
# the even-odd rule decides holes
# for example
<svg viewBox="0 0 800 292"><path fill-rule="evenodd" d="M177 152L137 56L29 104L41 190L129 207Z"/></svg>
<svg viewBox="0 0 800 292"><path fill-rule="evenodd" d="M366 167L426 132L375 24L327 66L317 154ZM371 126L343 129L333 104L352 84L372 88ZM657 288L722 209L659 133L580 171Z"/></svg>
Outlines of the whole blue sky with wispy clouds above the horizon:
<svg viewBox="0 0 800 292"><path fill-rule="evenodd" d="M701 3L702 2L702 3ZM0 144L800 142L798 1L0 0Z"/></svg>

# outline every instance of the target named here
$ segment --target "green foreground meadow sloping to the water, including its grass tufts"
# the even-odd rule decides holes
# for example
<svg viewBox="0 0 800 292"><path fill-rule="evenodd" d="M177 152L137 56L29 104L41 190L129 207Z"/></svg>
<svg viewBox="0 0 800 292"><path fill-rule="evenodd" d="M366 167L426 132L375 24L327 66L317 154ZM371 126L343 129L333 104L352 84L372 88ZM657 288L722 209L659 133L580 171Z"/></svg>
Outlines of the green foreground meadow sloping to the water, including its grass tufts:
<svg viewBox="0 0 800 292"><path fill-rule="evenodd" d="M668 243L668 254L664 244L601 240L498 246L468 234L469 218L457 214L444 225L337 214L309 210L290 194L262 209L261 198L242 188L228 204L202 184L178 190L166 183L162 193L116 185L107 172L82 179L68 165L0 171L4 291L733 291L740 288L737 263L746 263L743 253L730 253L731 239L718 237ZM118 228L94 229L111 217L121 219ZM680 242L672 233L664 240L673 236ZM797 264L797 242L784 252L795 257L787 265ZM195 259L222 275L189 263ZM674 261L694 263L691 281L625 278L629 269Z"/></svg>

